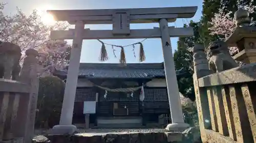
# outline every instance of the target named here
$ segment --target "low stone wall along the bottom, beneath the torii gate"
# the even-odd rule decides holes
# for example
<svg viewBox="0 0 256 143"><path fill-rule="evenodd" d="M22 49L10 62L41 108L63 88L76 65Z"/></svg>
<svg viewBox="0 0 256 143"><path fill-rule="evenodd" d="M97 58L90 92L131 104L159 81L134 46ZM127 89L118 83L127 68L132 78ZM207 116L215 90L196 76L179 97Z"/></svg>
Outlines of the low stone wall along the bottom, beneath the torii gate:
<svg viewBox="0 0 256 143"><path fill-rule="evenodd" d="M36 143L164 143L201 142L199 128L189 128L184 132L120 132L120 133L79 133L74 135L37 136Z"/></svg>

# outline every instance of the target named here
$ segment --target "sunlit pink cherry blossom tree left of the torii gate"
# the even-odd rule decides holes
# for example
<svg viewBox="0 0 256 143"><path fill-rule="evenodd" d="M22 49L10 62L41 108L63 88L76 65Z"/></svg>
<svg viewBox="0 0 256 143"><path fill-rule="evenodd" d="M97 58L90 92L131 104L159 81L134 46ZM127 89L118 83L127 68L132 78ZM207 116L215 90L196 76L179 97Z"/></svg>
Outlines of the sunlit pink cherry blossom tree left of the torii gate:
<svg viewBox="0 0 256 143"><path fill-rule="evenodd" d="M66 30L69 25L65 22L56 22L46 25L41 21L37 11L25 15L20 9L11 16L5 15L3 10L6 4L0 3L0 41L17 44L24 53L29 48L36 49L40 54L38 62L40 75L52 72L54 68L64 68L69 64L71 46L64 40L51 40L51 30Z"/></svg>

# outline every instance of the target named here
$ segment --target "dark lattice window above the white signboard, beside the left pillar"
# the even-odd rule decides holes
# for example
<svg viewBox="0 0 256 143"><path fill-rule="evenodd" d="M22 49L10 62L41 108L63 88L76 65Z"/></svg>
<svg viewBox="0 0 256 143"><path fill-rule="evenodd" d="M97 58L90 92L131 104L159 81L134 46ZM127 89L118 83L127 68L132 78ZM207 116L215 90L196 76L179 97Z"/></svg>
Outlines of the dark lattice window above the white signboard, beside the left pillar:
<svg viewBox="0 0 256 143"><path fill-rule="evenodd" d="M76 89L75 102L96 101L96 93L93 89Z"/></svg>

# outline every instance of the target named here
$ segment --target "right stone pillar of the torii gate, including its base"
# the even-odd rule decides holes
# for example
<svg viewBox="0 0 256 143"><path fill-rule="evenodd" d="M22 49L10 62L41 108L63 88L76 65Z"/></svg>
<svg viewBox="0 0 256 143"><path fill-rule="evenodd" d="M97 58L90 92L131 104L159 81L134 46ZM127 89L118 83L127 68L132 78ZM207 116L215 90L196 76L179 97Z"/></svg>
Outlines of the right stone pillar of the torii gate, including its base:
<svg viewBox="0 0 256 143"><path fill-rule="evenodd" d="M189 125L185 124L183 120L183 113L181 108L180 93L176 77L172 46L170 45L170 37L168 32L168 22L166 19L161 19L159 25L162 35L161 40L163 49L165 78L170 106L170 115L172 116L172 124L167 125L166 130L184 131L189 127Z"/></svg>

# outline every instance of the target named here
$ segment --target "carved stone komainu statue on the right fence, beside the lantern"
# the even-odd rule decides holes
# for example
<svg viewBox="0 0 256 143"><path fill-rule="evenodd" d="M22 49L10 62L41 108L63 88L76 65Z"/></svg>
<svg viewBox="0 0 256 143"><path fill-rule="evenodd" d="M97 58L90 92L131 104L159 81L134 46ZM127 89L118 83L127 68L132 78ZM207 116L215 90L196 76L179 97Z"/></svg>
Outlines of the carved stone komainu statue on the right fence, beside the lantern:
<svg viewBox="0 0 256 143"><path fill-rule="evenodd" d="M239 66L229 54L227 45L224 41L219 40L211 42L206 49L206 54L207 59L209 60L209 69L215 73Z"/></svg>

